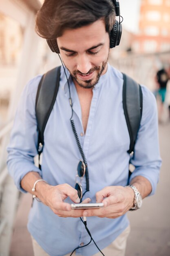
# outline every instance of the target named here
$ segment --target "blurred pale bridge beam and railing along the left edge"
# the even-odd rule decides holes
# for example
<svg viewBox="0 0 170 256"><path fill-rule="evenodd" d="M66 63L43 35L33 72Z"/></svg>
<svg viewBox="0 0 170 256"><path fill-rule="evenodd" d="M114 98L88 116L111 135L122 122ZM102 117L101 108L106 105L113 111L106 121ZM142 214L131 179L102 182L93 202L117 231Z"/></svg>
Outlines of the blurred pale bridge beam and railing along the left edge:
<svg viewBox="0 0 170 256"><path fill-rule="evenodd" d="M33 3L34 2L34 3ZM25 3L25 4L24 4ZM29 3L33 3L29 5ZM23 44L21 53L21 62L18 67L15 90L9 102L9 111L7 114L7 125L0 130L0 256L9 256L11 237L13 234L13 222L15 219L18 205L19 192L8 175L6 167L7 144L12 127L12 121L20 93L31 77L36 74L38 61L38 44L40 39L35 34L35 9L40 7L38 0L1 0L0 11L6 16L17 20L23 29ZM26 61L25 61L26 60ZM14 83L14 81L12 81Z"/></svg>

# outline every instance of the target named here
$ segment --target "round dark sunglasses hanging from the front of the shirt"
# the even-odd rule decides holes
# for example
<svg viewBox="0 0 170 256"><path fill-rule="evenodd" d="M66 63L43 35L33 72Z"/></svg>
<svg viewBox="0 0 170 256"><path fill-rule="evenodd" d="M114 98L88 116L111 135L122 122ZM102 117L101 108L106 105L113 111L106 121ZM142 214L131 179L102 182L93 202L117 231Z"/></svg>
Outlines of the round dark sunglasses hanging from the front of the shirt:
<svg viewBox="0 0 170 256"><path fill-rule="evenodd" d="M86 172L86 165L84 164L83 161L79 161L79 164L77 166L77 175L75 176L75 189L78 192L78 196L80 200L82 199L82 196L83 196L83 190L82 190L81 182L77 182L77 177L79 177L82 180L85 175L85 172Z"/></svg>

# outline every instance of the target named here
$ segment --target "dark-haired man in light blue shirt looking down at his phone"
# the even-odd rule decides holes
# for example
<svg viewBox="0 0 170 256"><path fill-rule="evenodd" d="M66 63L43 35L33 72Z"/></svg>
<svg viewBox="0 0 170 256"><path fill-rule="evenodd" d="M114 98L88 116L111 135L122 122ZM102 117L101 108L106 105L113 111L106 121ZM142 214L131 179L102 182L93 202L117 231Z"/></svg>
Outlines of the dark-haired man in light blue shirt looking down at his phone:
<svg viewBox="0 0 170 256"><path fill-rule="evenodd" d="M44 131L41 170L33 163L38 141L35 98L41 76L24 89L8 147L8 168L18 189L41 201L34 200L29 214L34 253L71 255L79 247L77 255L101 255L93 242L85 246L90 237L78 217L87 216L103 254L122 256L129 234L126 212L134 207L135 194L134 188L126 187L130 138L122 104L123 76L108 64L114 5L110 0L46 0L36 22L40 36L57 38L68 81L61 68L59 91ZM161 159L155 98L144 86L142 93L130 184L145 198L155 193ZM69 119L74 120L79 143ZM89 175L89 191L85 175L81 178L82 200L103 202L101 209L71 210L70 204L80 201L75 189L80 146Z"/></svg>

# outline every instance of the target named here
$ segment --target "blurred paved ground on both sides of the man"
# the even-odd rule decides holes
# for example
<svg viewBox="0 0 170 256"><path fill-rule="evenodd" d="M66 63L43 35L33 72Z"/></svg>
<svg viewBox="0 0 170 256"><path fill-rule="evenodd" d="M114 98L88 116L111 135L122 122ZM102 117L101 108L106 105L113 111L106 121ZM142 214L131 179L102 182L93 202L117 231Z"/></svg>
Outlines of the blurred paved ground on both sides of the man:
<svg viewBox="0 0 170 256"><path fill-rule="evenodd" d="M170 122L159 126L159 138L163 165L157 192L144 200L139 211L128 213L131 233L126 256L170 256ZM33 256L26 230L30 206L30 195L22 195L10 256Z"/></svg>

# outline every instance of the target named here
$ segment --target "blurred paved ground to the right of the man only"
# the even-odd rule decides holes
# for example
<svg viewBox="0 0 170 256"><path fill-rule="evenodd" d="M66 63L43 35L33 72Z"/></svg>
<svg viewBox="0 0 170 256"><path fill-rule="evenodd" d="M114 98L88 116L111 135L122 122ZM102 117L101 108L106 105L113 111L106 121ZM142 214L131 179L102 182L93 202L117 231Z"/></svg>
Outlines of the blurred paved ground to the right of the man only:
<svg viewBox="0 0 170 256"><path fill-rule="evenodd" d="M131 233L126 256L170 256L170 123L159 126L163 159L156 194L129 212Z"/></svg>

